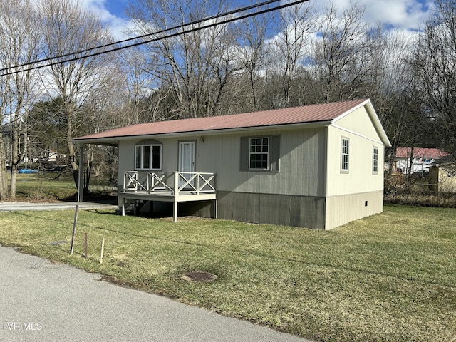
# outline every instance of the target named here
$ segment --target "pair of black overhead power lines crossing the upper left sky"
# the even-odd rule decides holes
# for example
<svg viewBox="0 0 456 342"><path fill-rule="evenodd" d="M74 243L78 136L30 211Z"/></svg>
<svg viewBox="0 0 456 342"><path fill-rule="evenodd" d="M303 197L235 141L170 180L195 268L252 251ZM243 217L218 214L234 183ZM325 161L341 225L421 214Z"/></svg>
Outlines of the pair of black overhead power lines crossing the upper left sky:
<svg viewBox="0 0 456 342"><path fill-rule="evenodd" d="M260 6L265 6L266 4L271 4L271 3L274 3L274 2L277 2L277 1L280 1L280 0L264 1L261 4L247 6L247 7L243 7L242 9L237 9L237 10L234 10L234 11L226 12L224 14L218 14L216 16L210 16L210 17L207 17L207 18L204 18L204 19L199 19L197 21L192 21L192 22L190 22L188 24L182 24L180 26L174 26L172 28L167 28L167 29L164 29L164 30L161 30L161 31L157 31L157 32L154 32L154 33L147 33L147 34L142 35L142 36L137 36L135 38L128 38L128 39L125 39L123 41L117 41L115 43L108 43L108 44L105 44L103 46L96 46L94 48L88 48L86 50L81 50L81 51L77 51L77 52L73 52L73 53L66 53L66 54L61 55L61 56L44 58L44 59L39 60L39 61L33 61L33 62L29 62L29 63L24 63L24 64L21 64L19 66L3 68L3 69L0 69L0 71L7 71L7 70L9 70L11 68L20 68L22 66L32 66L33 64L43 63L43 62L46 62L46 61L52 61L53 59L56 59L56 58L64 58L64 57L73 56L73 55L76 55L76 54L79 54L79 53L85 53L85 52L88 52L88 51L93 51L93 50L98 49L98 48L118 45L119 43L125 43L127 41L133 41L133 40L136 40L136 39L139 39L139 38L145 38L145 37L148 37L148 36L156 36L157 34L165 33L167 31L172 31L172 30L175 30L177 28L185 28L187 26L193 26L193 25L196 25L196 24L200 24L200 23L202 23L204 21L210 21L210 20L213 20L213 19L222 18L224 16L229 16L229 15L232 15L232 14L238 14L238 13L240 13L242 11L248 11L249 9L254 9L254 8L257 8L257 7L260 7ZM139 43L133 43L133 44L126 45L126 46L119 46L117 48L112 48L110 50L90 53L90 54L85 55L85 56L78 56L78 57L74 57L74 58L69 58L69 59L66 59L65 61L51 62L51 63L44 64L44 65L41 65L41 66L33 66L31 68L26 68L26 69L23 69L23 70L20 70L20 71L10 71L10 72L7 72L7 73L2 73L0 76L12 75L12 74L21 73L21 72L24 72L24 71L35 70L35 69L38 69L38 68L46 68L47 66L53 66L55 64L63 64L63 63L71 62L71 61L78 61L79 59L83 59L83 58L99 56L99 55L102 55L104 53L120 51L120 50L123 50L123 49L126 49L126 48L132 48L132 47L135 47L135 46L140 46L140 45L147 44L147 43L152 43L152 42L155 42L155 41L161 41L162 39L173 38L175 36L181 36L181 35L183 35L185 33L192 33L192 32L195 32L195 31L201 31L201 30L203 30L205 28L211 28L211 27L214 27L214 26L222 25L222 24L228 24L228 23L231 23L233 21L239 21L239 20L242 20L242 19L247 19L249 17L257 16L259 14L266 14L266 13L269 13L271 11L277 11L279 9L284 9L286 7L289 7L289 6L294 6L296 4L301 4L301 3L306 2L306 1L309 1L309 0L293 1L293 2L290 2L288 4L283 4L283 5L271 7L269 9L263 9L261 11L256 11L256 12L251 13L251 14L244 14L243 16L236 16L234 18L229 18L229 19L226 19L224 21L214 22L213 24L207 24L207 25L200 26L200 27L197 27L197 28L191 28L191 29L188 29L186 31L180 31L180 32L177 32L177 33L171 33L171 34L168 34L166 36L161 36L161 37L158 37L158 38L152 38L152 39L149 39L149 40L146 40L146 41L140 41Z"/></svg>

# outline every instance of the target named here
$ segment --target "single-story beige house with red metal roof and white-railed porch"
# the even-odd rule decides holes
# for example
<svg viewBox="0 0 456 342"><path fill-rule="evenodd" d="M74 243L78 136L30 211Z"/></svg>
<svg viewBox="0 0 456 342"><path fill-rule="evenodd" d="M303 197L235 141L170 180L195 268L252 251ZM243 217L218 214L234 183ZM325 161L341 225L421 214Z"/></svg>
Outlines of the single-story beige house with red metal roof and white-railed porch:
<svg viewBox="0 0 456 342"><path fill-rule="evenodd" d="M175 220L332 229L383 211L390 142L370 100L144 123L75 141L119 147L123 212L130 202L170 202Z"/></svg>

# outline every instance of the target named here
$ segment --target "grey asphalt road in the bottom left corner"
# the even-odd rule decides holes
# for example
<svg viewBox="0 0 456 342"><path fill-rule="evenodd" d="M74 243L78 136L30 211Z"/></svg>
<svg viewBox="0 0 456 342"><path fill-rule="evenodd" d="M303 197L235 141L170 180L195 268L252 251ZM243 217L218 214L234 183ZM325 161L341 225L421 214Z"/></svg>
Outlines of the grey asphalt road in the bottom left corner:
<svg viewBox="0 0 456 342"><path fill-rule="evenodd" d="M304 342L0 246L0 341Z"/></svg>

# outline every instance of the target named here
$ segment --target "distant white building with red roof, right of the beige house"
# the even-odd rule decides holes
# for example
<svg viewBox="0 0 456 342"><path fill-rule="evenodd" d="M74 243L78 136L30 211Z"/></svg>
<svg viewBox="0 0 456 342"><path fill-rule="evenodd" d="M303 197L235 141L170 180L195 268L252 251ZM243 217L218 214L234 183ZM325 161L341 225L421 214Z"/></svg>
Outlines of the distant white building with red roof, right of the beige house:
<svg viewBox="0 0 456 342"><path fill-rule="evenodd" d="M411 147L398 147L396 150L396 170L408 174L411 162L410 173L429 172L429 168L437 160L441 160L447 155L447 152L438 148L414 147L412 150Z"/></svg>

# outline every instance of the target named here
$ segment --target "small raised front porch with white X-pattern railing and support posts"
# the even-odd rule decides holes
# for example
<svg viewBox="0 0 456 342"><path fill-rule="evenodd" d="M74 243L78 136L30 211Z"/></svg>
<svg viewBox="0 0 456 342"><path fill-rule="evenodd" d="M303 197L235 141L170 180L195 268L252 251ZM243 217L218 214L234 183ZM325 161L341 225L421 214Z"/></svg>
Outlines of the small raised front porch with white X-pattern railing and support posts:
<svg viewBox="0 0 456 342"><path fill-rule="evenodd" d="M123 173L123 185L118 192L122 215L130 203L138 200L150 202L172 202L173 220L177 222L179 202L215 201L217 198L215 174L209 172L146 172Z"/></svg>

